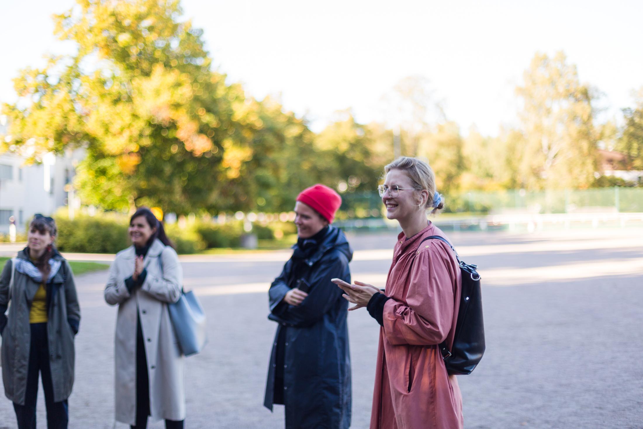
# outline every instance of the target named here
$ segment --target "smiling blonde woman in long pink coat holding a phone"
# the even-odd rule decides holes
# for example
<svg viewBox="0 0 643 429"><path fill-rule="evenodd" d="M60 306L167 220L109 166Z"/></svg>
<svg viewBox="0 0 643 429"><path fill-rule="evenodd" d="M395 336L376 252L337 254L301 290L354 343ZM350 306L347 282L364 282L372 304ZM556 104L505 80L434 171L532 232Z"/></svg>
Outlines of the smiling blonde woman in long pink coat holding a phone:
<svg viewBox="0 0 643 429"><path fill-rule="evenodd" d="M431 235L428 221L442 209L429 165L402 157L385 168L379 194L386 217L402 227L386 279L386 291L369 284L337 282L344 298L367 307L381 325L370 429L462 428L462 395L449 376L438 345L453 346L462 279L453 251ZM422 244L420 244L422 242Z"/></svg>

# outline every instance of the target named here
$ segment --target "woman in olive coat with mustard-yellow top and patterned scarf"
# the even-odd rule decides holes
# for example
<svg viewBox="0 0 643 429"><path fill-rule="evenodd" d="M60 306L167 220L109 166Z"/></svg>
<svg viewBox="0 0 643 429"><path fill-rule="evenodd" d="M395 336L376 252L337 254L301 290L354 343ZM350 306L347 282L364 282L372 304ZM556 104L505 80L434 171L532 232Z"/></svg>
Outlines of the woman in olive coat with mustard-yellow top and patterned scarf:
<svg viewBox="0 0 643 429"><path fill-rule="evenodd" d="M6 262L0 277L3 384L19 429L36 427L39 373L47 427L67 428L69 419L80 307L71 268L53 246L56 230L51 217L35 215L28 246Z"/></svg>

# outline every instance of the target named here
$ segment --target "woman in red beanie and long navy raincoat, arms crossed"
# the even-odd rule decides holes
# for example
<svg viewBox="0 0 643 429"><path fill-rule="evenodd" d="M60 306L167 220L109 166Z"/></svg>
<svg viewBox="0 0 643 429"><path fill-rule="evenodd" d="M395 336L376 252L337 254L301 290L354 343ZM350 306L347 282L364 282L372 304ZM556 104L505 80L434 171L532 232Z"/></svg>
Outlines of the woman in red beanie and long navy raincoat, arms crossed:
<svg viewBox="0 0 643 429"><path fill-rule="evenodd" d="M278 323L264 405L285 405L286 429L350 426L348 303L331 278L350 283L353 251L331 226L341 197L329 187L302 191L294 205L297 243L268 292Z"/></svg>

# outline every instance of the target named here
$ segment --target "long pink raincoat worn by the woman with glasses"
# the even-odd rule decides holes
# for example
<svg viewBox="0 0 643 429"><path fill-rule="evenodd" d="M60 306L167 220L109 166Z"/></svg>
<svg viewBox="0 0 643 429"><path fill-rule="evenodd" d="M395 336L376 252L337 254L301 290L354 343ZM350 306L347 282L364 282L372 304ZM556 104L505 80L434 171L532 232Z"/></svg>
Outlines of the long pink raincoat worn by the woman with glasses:
<svg viewBox="0 0 643 429"><path fill-rule="evenodd" d="M462 428L462 395L437 345L453 345L462 278L432 223L397 238L386 280L370 429ZM418 248L420 246L420 248Z"/></svg>

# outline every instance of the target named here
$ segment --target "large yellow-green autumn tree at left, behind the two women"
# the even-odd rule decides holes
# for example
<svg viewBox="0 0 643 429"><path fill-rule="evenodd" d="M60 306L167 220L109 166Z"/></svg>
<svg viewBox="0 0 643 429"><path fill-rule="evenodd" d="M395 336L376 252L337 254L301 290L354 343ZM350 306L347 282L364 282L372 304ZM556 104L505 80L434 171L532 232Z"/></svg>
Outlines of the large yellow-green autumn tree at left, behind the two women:
<svg viewBox="0 0 643 429"><path fill-rule="evenodd" d="M39 161L84 147L78 193L108 209L282 205L293 177L276 168L312 141L302 120L213 72L202 32L180 20L178 1L77 3L55 16L56 35L77 53L15 79L20 99L5 105L10 149Z"/></svg>

